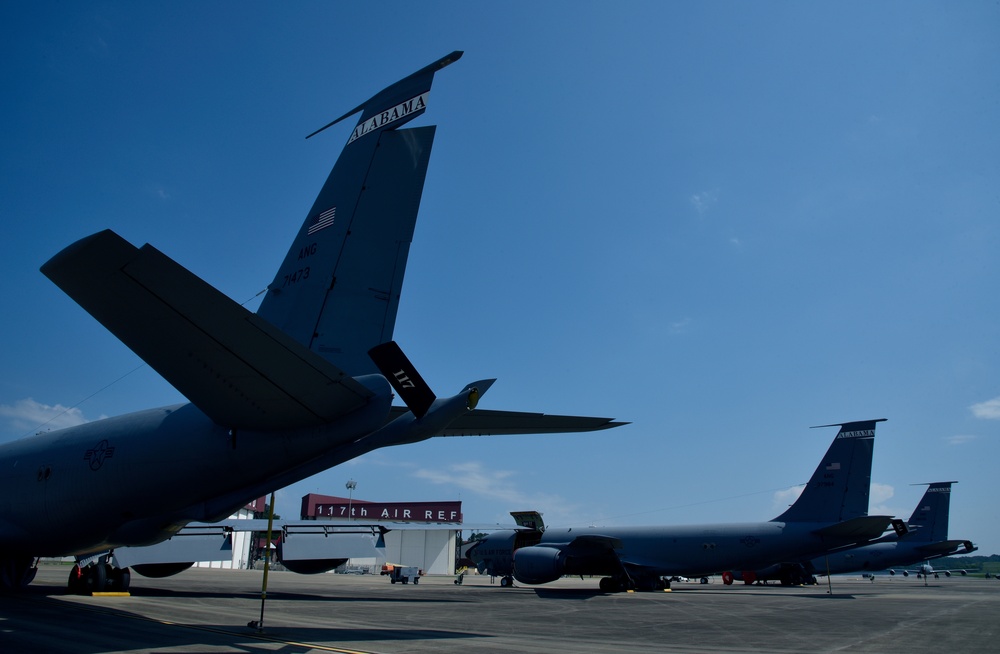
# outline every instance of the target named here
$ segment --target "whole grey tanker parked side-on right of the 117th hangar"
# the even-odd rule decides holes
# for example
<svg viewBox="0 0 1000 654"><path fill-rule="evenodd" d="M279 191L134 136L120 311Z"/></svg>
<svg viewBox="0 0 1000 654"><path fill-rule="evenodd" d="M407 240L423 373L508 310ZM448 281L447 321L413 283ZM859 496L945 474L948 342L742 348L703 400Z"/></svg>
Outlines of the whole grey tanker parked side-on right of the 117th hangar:
<svg viewBox="0 0 1000 654"><path fill-rule="evenodd" d="M770 522L497 531L468 556L482 571L502 577L502 586L513 579L545 584L564 575L607 575L601 590L653 590L678 575L731 575L763 562L811 558L871 541L892 522L891 516L868 515L878 422L839 425L802 494Z"/></svg>

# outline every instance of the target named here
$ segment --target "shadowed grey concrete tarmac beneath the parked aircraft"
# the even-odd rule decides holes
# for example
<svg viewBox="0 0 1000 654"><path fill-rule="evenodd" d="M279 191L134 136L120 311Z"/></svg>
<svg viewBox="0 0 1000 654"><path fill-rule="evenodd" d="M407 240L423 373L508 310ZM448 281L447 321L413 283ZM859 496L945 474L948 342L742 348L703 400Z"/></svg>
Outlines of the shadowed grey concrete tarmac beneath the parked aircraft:
<svg viewBox="0 0 1000 654"><path fill-rule="evenodd" d="M835 577L811 587L674 584L597 590L597 579L500 588L488 577L259 571L132 577L131 597L68 595L65 566L0 595L2 652L996 652L1000 581Z"/></svg>

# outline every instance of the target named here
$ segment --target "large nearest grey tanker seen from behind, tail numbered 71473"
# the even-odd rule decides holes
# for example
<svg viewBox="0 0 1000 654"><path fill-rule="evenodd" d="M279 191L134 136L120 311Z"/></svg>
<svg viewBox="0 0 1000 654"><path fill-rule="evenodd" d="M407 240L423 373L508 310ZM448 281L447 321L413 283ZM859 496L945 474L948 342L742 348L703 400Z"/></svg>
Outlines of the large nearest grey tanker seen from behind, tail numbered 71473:
<svg viewBox="0 0 1000 654"><path fill-rule="evenodd" d="M361 114L256 314L110 230L42 266L190 404L0 446L3 585L30 583L36 557L75 555L75 586L121 589L129 575L114 548L225 518L376 448L623 424L473 412L493 380L437 398L391 341L435 132L400 128L424 113L434 74L461 55L337 119ZM406 407L391 406L393 388Z"/></svg>

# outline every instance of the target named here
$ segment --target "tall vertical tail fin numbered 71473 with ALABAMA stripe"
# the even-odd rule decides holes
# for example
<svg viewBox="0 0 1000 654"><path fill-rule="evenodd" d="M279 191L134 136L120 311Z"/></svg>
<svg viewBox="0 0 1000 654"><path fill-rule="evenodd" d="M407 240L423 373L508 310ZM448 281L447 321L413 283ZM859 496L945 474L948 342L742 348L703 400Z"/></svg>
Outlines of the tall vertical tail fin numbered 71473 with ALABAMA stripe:
<svg viewBox="0 0 1000 654"><path fill-rule="evenodd" d="M367 352L392 339L434 140L434 127L399 128L426 110L434 73L461 56L322 128L361 113L257 311L350 375L377 372Z"/></svg>

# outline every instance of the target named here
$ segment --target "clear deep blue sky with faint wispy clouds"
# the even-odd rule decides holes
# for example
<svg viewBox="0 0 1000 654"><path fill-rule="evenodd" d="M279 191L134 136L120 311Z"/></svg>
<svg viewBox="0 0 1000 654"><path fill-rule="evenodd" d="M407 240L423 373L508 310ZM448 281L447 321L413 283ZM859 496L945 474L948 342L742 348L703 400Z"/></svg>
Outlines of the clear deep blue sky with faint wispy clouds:
<svg viewBox="0 0 1000 654"><path fill-rule="evenodd" d="M951 535L1000 553L998 28L993 2L0 4L0 438L182 400L51 255L111 228L249 300L352 125L304 136L464 50L415 123L396 340L439 394L497 377L483 408L632 424L381 450L279 512L353 478L476 523L766 520L811 425L884 417L873 512L959 480Z"/></svg>

